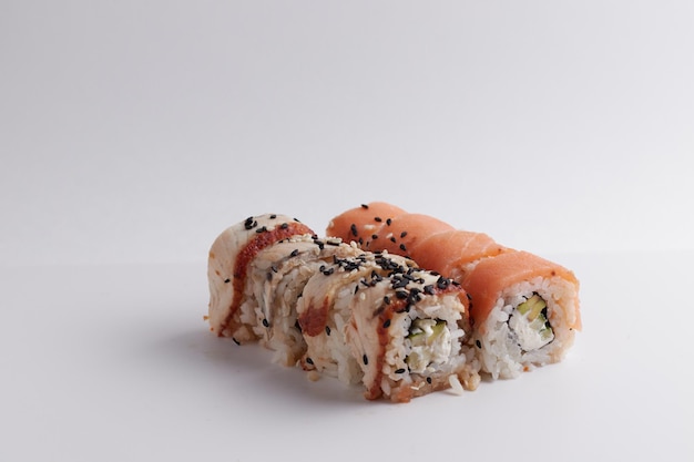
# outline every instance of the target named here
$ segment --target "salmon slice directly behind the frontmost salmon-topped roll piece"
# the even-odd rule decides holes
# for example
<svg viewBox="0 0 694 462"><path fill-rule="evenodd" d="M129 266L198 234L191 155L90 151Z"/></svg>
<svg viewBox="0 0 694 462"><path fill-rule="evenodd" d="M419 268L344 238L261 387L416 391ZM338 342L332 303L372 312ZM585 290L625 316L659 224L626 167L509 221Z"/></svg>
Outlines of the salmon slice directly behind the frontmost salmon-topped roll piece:
<svg viewBox="0 0 694 462"><path fill-rule="evenodd" d="M496 257L510 249L484 233L453 229L423 237L410 245L409 251L422 268L460 281L480 259Z"/></svg>

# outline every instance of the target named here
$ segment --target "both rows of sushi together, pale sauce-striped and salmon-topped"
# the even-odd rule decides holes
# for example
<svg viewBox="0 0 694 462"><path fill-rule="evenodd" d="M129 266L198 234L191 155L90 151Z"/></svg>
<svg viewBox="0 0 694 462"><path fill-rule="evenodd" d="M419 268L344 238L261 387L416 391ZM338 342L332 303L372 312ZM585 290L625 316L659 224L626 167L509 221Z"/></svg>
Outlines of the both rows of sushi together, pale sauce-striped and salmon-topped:
<svg viewBox="0 0 694 462"><path fill-rule="evenodd" d="M561 361L581 329L571 270L384 202L337 215L324 236L251 216L214 240L207 277L214 335L369 400L517 378Z"/></svg>

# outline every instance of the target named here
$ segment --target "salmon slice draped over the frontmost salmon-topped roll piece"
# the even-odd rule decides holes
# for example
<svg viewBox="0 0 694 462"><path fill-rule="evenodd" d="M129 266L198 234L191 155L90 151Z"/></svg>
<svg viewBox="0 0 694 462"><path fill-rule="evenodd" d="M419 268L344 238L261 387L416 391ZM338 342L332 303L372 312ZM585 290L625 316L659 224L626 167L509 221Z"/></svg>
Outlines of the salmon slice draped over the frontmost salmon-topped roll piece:
<svg viewBox="0 0 694 462"><path fill-rule="evenodd" d="M493 258L482 259L461 283L472 297L470 317L476 326L487 320L504 288L535 277L562 278L574 285L578 292L579 280L573 271L528 251L507 251ZM574 316L567 319L567 327L581 330L578 306Z"/></svg>

